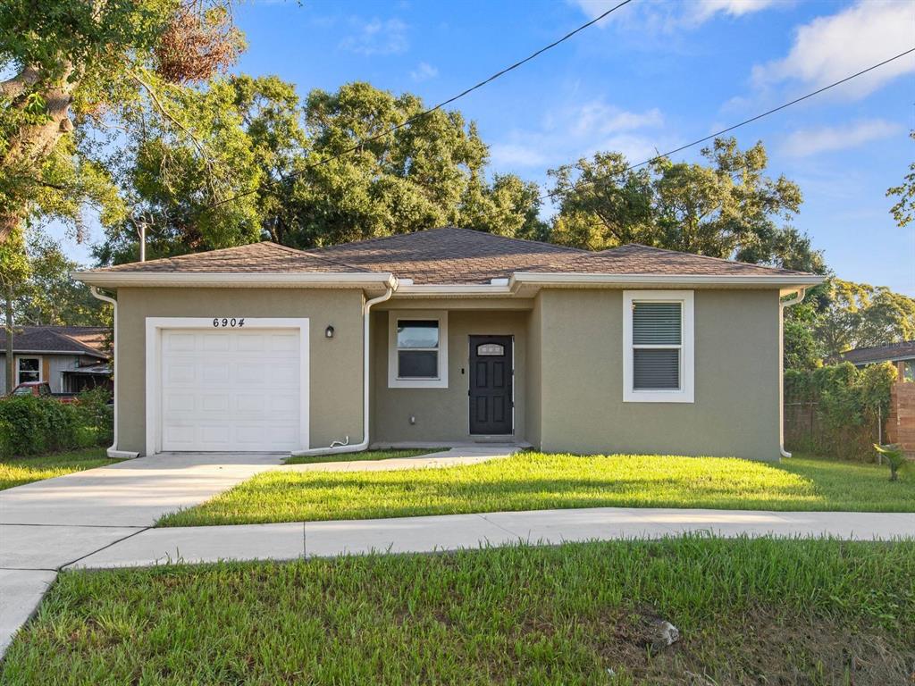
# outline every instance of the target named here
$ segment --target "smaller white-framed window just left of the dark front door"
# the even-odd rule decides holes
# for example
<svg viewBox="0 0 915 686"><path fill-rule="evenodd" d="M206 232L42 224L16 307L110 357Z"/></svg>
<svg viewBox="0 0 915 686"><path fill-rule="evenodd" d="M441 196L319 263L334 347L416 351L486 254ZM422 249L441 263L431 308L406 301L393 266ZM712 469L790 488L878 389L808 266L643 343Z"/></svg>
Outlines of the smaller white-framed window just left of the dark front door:
<svg viewBox="0 0 915 686"><path fill-rule="evenodd" d="M447 387L447 312L389 312L388 388Z"/></svg>

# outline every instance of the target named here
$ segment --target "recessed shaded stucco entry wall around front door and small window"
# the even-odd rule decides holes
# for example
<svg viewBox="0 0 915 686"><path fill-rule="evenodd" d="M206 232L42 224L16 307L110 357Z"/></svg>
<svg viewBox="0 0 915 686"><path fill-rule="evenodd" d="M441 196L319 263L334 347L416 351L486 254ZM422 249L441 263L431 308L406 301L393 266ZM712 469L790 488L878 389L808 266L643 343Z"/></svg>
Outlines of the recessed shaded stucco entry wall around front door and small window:
<svg viewBox="0 0 915 686"><path fill-rule="evenodd" d="M395 307L396 305L391 305ZM482 305L485 306L485 305ZM468 441L468 337L514 336L515 436L525 436L527 312L448 311L447 389L388 388L388 312L371 315L371 422L373 443ZM410 417L416 423L410 423Z"/></svg>

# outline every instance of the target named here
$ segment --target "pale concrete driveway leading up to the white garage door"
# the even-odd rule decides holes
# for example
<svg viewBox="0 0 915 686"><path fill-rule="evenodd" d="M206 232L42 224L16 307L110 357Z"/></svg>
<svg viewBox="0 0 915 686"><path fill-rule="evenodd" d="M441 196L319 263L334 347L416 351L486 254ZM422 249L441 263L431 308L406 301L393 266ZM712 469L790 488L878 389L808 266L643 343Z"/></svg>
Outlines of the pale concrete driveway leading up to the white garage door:
<svg viewBox="0 0 915 686"><path fill-rule="evenodd" d="M278 466L283 457L140 457L0 491L0 656L59 569Z"/></svg>

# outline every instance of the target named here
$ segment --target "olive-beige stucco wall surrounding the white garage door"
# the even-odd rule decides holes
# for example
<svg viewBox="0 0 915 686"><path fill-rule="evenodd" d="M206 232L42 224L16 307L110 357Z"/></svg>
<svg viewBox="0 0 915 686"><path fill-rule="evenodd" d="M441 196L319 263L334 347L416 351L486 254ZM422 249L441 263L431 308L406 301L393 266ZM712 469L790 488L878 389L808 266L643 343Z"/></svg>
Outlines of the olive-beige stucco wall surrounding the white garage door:
<svg viewBox="0 0 915 686"><path fill-rule="evenodd" d="M147 316L308 317L312 447L362 440L361 290L120 288L118 299L118 448L145 451ZM325 338L328 324L334 338Z"/></svg>

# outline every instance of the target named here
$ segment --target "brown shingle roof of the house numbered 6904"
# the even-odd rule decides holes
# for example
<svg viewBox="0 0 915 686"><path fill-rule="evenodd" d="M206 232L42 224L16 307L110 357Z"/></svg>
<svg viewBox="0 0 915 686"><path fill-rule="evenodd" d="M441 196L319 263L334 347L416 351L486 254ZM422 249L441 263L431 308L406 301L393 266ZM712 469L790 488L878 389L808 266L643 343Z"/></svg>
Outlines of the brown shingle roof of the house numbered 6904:
<svg viewBox="0 0 915 686"><path fill-rule="evenodd" d="M119 273L393 273L415 284L488 284L512 273L811 276L787 269L624 245L603 252L444 227L299 251L272 242L199 252L84 272Z"/></svg>

